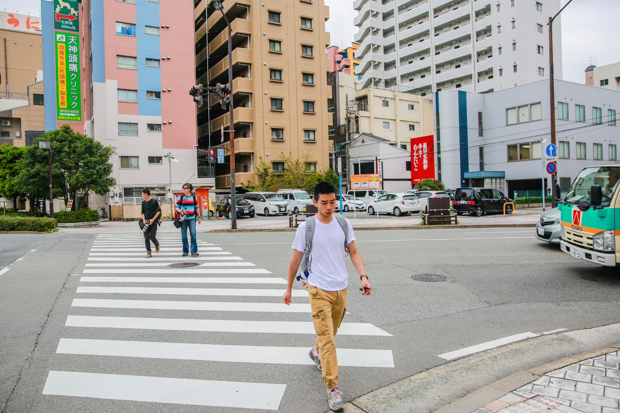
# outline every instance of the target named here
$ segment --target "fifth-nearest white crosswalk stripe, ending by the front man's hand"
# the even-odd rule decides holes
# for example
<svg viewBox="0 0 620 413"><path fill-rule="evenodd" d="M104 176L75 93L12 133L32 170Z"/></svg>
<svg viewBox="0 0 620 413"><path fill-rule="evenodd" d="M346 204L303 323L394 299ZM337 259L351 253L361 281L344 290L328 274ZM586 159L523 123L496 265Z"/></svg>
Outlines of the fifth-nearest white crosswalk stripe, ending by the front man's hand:
<svg viewBox="0 0 620 413"><path fill-rule="evenodd" d="M163 294L163 295L234 295L241 297L282 297L285 290L268 289L192 289L172 287L78 287L78 293L95 294ZM306 290L293 290L293 297L306 297Z"/></svg>

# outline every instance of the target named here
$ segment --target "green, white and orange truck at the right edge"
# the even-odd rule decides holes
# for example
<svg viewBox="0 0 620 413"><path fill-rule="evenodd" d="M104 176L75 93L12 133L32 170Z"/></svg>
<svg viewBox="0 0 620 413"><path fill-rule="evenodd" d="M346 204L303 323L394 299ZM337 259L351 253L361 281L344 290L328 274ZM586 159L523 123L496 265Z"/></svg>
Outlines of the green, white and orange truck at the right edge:
<svg viewBox="0 0 620 413"><path fill-rule="evenodd" d="M560 248L575 258L606 267L620 263L620 165L584 168L558 204Z"/></svg>

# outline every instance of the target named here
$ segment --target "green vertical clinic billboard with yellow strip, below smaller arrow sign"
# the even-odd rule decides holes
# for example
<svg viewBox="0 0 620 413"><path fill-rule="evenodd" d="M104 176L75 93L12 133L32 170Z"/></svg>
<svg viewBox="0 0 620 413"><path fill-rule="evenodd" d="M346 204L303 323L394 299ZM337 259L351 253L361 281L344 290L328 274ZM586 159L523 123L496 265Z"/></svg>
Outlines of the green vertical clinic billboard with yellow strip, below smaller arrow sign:
<svg viewBox="0 0 620 413"><path fill-rule="evenodd" d="M82 120L79 35L55 32L56 113L58 120Z"/></svg>

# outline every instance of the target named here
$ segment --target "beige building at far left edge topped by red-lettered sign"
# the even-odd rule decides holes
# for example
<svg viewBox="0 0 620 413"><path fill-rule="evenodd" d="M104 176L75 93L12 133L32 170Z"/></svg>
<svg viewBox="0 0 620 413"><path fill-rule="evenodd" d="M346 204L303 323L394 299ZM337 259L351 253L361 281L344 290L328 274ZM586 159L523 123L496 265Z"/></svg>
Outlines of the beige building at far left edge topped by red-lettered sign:
<svg viewBox="0 0 620 413"><path fill-rule="evenodd" d="M0 145L25 146L45 130L41 18L11 15L0 15Z"/></svg>

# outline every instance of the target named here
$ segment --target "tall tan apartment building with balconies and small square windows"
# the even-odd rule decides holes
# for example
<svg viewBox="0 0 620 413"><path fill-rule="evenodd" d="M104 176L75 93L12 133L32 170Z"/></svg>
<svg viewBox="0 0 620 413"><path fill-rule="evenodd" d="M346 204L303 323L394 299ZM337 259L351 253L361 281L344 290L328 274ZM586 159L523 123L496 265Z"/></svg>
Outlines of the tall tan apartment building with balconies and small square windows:
<svg viewBox="0 0 620 413"><path fill-rule="evenodd" d="M283 172L281 153L300 158L309 152L308 170L326 168L329 7L323 0L236 0L223 6L232 27L237 186L255 181L259 157ZM228 30L210 0L196 3L195 41L197 84L227 84ZM219 98L198 108L197 119L199 149L229 148L229 114ZM230 187L228 150L225 162L215 165L216 188Z"/></svg>

